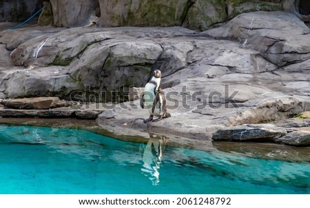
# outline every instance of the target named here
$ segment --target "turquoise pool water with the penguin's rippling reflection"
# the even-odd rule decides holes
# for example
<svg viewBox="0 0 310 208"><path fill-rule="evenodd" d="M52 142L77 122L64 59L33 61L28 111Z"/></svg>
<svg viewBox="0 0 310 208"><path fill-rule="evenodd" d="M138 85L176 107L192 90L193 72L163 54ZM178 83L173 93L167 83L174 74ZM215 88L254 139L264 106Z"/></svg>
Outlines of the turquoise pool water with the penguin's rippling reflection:
<svg viewBox="0 0 310 208"><path fill-rule="evenodd" d="M310 164L0 125L0 194L310 194Z"/></svg>

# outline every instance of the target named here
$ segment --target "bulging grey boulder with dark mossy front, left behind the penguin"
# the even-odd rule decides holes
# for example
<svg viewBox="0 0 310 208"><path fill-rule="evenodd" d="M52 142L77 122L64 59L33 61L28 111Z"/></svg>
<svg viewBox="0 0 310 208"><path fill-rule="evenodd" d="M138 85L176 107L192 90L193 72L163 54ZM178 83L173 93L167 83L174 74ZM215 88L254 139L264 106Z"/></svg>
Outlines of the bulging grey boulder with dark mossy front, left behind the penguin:
<svg viewBox="0 0 310 208"><path fill-rule="evenodd" d="M86 96L95 98L92 101L126 101L129 88L143 85L162 50L161 45L149 40L105 41L87 48L72 63L70 76L85 86Z"/></svg>

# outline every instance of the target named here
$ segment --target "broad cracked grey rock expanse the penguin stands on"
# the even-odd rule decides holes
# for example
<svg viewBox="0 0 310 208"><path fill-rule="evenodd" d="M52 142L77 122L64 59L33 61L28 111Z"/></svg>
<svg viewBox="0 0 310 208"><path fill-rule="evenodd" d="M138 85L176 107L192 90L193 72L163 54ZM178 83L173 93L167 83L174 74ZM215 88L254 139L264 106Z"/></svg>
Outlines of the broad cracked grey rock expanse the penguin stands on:
<svg viewBox="0 0 310 208"><path fill-rule="evenodd" d="M6 30L0 33L5 49L0 96L101 102L105 111L97 122L115 134L152 131L207 139L225 127L281 121L310 110L309 31L287 12L241 14L205 32ZM23 41L10 38L14 35ZM144 124L147 110L123 95L132 86L143 87L156 69L162 71L172 117Z"/></svg>

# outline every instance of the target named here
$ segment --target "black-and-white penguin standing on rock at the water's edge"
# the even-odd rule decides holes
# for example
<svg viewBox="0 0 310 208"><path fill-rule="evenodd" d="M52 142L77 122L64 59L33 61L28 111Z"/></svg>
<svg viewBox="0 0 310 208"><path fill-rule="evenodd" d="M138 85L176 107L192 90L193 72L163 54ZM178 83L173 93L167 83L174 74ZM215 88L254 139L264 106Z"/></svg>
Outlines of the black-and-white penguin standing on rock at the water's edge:
<svg viewBox="0 0 310 208"><path fill-rule="evenodd" d="M160 87L161 71L155 70L151 81L145 87L144 92L140 97L140 106L149 110L149 118L144 120L144 123L149 121L161 121L162 118L170 117L167 112L165 92ZM158 118L154 119L154 115Z"/></svg>

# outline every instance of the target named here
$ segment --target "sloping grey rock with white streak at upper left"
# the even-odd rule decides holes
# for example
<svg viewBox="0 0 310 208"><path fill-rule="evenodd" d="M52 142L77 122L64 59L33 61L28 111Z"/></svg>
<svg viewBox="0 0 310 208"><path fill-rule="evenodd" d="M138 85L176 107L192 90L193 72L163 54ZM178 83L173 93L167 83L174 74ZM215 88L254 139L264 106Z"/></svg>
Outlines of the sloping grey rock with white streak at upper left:
<svg viewBox="0 0 310 208"><path fill-rule="evenodd" d="M102 32L74 28L24 41L10 54L14 65L69 65L89 45L110 39Z"/></svg>

